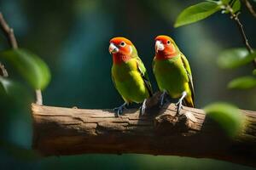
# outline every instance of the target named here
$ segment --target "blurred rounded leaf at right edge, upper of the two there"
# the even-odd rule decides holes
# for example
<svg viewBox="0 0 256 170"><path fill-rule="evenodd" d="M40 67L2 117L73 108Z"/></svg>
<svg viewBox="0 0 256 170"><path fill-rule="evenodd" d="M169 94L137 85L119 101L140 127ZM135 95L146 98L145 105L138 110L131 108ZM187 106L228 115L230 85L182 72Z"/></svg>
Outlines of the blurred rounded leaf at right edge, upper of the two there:
<svg viewBox="0 0 256 170"><path fill-rule="evenodd" d="M223 69L234 69L246 65L256 58L256 53L248 54L246 48L231 48L224 50L217 59L217 64Z"/></svg>

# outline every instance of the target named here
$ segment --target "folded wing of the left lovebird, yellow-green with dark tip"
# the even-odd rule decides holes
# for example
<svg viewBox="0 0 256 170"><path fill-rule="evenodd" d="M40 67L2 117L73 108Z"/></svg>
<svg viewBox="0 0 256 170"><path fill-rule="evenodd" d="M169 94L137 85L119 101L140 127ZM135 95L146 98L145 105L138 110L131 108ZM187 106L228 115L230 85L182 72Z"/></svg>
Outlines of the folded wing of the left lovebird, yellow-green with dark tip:
<svg viewBox="0 0 256 170"><path fill-rule="evenodd" d="M143 61L139 57L137 57L137 68L143 77L143 81L146 85L146 88L148 89L148 94L151 97L153 95L152 86L151 86L151 83L148 78L147 70L146 70L145 66L143 65Z"/></svg>

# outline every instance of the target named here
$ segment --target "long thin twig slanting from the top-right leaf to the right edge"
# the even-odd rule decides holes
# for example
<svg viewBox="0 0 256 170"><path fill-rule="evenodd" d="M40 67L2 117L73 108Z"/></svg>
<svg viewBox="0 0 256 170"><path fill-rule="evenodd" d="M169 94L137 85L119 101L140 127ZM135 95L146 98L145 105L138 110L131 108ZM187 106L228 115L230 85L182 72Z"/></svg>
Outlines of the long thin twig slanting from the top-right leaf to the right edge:
<svg viewBox="0 0 256 170"><path fill-rule="evenodd" d="M239 15L240 13L235 14L234 11L233 11L233 9L230 7L230 5L226 5L225 8L226 8L226 10L228 10L228 11L230 12L230 14L231 14L231 19L233 19L233 20L236 21L236 26L238 27L238 29L239 29L239 31L240 31L240 33L241 33L241 37L242 37L243 42L244 42L244 44L245 44L245 46L246 46L246 48L247 48L247 51L248 51L250 54L252 54L252 53L253 53L253 48L251 47L250 43L248 42L247 35L246 35L246 33L245 33L244 29L243 29L243 26L242 26L242 24L241 24L241 21L240 21L239 18L238 18L238 15ZM253 65L254 65L254 67L256 68L256 59L253 60Z"/></svg>

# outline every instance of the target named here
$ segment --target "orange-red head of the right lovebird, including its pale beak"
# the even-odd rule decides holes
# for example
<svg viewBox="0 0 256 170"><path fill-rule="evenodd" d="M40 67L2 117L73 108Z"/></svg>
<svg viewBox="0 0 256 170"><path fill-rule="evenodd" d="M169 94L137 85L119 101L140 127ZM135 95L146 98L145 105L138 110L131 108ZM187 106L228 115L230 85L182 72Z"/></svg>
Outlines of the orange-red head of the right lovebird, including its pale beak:
<svg viewBox="0 0 256 170"><path fill-rule="evenodd" d="M174 46L174 42L171 37L158 36L155 37L155 58L156 59L171 59L176 56L177 49Z"/></svg>

